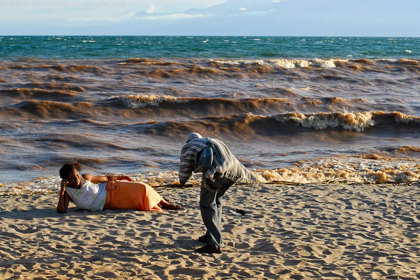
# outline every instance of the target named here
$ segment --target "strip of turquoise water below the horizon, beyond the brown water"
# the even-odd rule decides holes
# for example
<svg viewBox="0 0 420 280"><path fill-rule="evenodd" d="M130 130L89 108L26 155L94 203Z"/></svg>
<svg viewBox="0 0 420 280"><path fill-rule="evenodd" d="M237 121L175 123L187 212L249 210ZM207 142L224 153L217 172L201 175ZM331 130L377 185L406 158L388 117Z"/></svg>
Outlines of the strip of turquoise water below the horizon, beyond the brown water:
<svg viewBox="0 0 420 280"><path fill-rule="evenodd" d="M3 36L0 58L419 58L420 38Z"/></svg>

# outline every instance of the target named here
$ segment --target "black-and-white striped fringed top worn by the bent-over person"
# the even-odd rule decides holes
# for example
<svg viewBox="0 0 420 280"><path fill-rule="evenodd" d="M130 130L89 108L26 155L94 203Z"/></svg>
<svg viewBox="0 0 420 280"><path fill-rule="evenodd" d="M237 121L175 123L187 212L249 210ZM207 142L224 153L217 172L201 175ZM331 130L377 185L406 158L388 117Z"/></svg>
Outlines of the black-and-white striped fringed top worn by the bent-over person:
<svg viewBox="0 0 420 280"><path fill-rule="evenodd" d="M253 183L257 181L251 171L239 162L233 156L229 148L220 140L211 139L210 146L213 149L213 164L209 170L203 172L202 187L215 191L211 181L214 181L215 174L220 178L228 178L233 181L244 183ZM207 138L197 138L186 143L181 150L179 164L179 182L185 184L192 175L194 170L195 158L197 153L203 151L207 147Z"/></svg>

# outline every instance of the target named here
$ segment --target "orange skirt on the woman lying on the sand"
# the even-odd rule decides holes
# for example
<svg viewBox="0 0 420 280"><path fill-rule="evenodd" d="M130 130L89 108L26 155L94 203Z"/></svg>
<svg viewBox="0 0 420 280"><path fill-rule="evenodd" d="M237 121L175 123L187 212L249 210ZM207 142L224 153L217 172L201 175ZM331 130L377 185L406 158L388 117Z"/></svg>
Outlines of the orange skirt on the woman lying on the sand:
<svg viewBox="0 0 420 280"><path fill-rule="evenodd" d="M162 211L157 205L162 197L143 182L110 181L106 184L107 209Z"/></svg>

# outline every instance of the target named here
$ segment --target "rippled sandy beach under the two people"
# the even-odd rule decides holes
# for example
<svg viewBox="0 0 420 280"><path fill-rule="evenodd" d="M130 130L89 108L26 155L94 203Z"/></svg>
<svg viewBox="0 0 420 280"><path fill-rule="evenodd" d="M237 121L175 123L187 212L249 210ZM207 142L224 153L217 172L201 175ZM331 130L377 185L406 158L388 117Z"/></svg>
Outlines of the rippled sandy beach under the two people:
<svg viewBox="0 0 420 280"><path fill-rule="evenodd" d="M0 196L0 279L420 279L419 185L234 186L221 255L194 252L199 188L157 191L184 209L58 214L56 193Z"/></svg>

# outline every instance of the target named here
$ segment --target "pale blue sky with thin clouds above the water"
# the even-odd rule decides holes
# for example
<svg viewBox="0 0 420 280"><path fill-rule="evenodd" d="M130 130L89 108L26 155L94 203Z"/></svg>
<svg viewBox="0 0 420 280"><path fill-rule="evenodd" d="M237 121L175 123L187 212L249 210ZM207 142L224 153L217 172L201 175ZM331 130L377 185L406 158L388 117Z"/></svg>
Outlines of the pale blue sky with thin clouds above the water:
<svg viewBox="0 0 420 280"><path fill-rule="evenodd" d="M420 37L420 0L0 0L0 35Z"/></svg>

